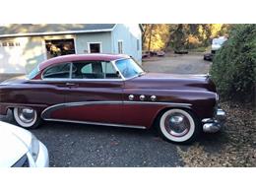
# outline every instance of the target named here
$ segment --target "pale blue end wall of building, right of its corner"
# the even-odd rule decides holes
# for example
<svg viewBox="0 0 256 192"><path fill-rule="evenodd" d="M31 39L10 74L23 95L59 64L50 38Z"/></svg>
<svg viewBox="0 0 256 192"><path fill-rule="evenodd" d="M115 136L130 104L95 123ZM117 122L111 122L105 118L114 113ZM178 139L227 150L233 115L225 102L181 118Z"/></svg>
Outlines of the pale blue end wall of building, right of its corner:
<svg viewBox="0 0 256 192"><path fill-rule="evenodd" d="M139 50L137 50L139 39ZM112 32L112 53L118 53L118 40L123 41L123 53L142 62L142 32L138 24L117 24Z"/></svg>

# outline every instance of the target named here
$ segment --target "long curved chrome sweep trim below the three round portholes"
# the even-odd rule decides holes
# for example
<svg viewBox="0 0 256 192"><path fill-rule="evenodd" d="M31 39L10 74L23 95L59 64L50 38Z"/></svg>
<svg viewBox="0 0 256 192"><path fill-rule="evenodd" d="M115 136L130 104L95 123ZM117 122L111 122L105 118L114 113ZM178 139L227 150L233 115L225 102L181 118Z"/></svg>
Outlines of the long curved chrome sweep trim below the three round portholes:
<svg viewBox="0 0 256 192"><path fill-rule="evenodd" d="M41 112L42 119L50 118L50 113L54 110L71 107L71 106L81 106L81 105L100 105L100 104L159 104L159 105L169 105L169 106L180 106L180 107L189 107L191 104L189 103L177 103L177 102L152 102L152 101L122 101L122 100L110 100L110 101L81 101L81 102L66 102L59 103L48 106Z"/></svg>

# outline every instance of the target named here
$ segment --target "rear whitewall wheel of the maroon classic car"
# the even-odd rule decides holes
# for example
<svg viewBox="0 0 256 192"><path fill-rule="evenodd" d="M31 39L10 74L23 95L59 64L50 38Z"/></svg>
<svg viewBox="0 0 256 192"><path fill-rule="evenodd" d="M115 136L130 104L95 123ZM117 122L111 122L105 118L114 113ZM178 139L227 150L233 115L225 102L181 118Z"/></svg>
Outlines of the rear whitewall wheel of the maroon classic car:
<svg viewBox="0 0 256 192"><path fill-rule="evenodd" d="M16 123L26 129L34 129L40 123L36 110L29 107L15 107L13 116Z"/></svg>

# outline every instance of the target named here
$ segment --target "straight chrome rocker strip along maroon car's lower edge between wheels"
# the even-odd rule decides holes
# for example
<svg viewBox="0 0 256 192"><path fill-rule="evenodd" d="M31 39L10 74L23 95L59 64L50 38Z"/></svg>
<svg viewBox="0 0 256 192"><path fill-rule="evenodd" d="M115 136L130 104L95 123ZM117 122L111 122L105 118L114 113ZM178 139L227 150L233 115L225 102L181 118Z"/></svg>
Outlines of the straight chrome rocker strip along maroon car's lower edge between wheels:
<svg viewBox="0 0 256 192"><path fill-rule="evenodd" d="M146 129L145 126L138 125L124 125L124 124L114 124L114 123L97 123L91 121L74 121L74 120L64 120L64 119L44 119L46 121L57 121L57 122L69 122L69 123L80 123L80 124L91 124L91 125L101 125L101 126L111 126L111 127L127 127L135 129Z"/></svg>

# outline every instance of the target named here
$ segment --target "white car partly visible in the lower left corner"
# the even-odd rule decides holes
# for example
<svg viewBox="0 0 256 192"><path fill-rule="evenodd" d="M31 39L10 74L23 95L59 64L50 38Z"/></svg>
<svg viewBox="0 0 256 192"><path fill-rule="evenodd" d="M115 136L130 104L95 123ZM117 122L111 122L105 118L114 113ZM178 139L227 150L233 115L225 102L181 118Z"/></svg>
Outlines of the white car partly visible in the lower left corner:
<svg viewBox="0 0 256 192"><path fill-rule="evenodd" d="M0 121L0 167L47 167L46 147L30 131Z"/></svg>

